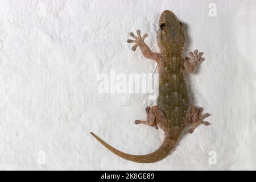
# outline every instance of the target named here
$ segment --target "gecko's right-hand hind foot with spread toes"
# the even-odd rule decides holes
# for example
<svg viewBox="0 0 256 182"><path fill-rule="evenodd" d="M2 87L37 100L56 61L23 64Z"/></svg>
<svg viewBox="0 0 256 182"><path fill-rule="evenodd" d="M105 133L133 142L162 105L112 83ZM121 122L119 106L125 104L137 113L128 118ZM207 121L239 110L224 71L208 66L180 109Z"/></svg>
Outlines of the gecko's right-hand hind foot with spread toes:
<svg viewBox="0 0 256 182"><path fill-rule="evenodd" d="M190 106L191 112L189 115L189 120L192 123L192 127L191 129L188 130L189 133L193 133L193 131L196 129L197 126L199 126L200 124L203 124L205 126L211 125L209 122L207 121L203 121L204 118L207 118L210 116L209 113L203 114L203 107L200 107L199 109L196 109L195 106Z"/></svg>

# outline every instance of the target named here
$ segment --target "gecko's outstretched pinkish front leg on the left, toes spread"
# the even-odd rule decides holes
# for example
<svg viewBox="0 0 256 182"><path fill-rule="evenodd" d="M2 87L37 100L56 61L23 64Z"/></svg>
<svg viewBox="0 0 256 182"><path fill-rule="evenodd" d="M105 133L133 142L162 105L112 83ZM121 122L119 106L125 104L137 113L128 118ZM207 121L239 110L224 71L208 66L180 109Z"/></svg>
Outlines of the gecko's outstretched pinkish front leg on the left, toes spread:
<svg viewBox="0 0 256 182"><path fill-rule="evenodd" d="M160 59L160 54L156 52L152 52L150 48L147 47L146 43L144 43L144 39L147 37L147 34L144 34L143 36L141 36L141 31L137 30L137 35L138 36L135 36L133 32L130 33L130 36L132 36L135 39L135 40L130 40L130 39L127 40L127 43L135 43L135 45L131 49L135 51L136 48L139 46L144 57L158 62L158 60Z"/></svg>

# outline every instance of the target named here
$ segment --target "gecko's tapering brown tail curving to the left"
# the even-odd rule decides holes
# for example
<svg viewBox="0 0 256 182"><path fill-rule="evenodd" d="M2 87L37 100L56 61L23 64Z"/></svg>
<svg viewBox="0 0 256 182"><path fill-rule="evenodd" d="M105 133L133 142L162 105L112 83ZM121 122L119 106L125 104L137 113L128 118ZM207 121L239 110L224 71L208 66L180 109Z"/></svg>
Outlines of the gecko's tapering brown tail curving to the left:
<svg viewBox="0 0 256 182"><path fill-rule="evenodd" d="M121 152L115 149L114 147L110 146L108 143L104 142L104 140L102 140L96 134L92 132L90 134L92 134L94 138L96 138L101 144L103 144L106 148L108 148L108 150L112 151L114 154L120 156L123 159L130 160L132 162L137 162L137 163L158 162L159 160L166 158L166 156L170 154L170 151L175 145L175 142L170 140L170 137L166 136L164 137L163 143L156 151L146 155L130 155L130 154Z"/></svg>

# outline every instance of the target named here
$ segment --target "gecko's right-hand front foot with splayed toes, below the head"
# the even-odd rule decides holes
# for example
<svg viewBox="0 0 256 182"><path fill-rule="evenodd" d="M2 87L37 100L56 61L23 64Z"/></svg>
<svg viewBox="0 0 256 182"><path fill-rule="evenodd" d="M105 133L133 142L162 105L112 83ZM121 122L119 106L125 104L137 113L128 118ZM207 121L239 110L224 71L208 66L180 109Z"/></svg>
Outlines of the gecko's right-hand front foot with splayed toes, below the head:
<svg viewBox="0 0 256 182"><path fill-rule="evenodd" d="M189 52L190 57L183 59L185 71L192 73L197 65L204 61L204 57L201 57L203 54L203 52L198 52L197 49L194 52Z"/></svg>

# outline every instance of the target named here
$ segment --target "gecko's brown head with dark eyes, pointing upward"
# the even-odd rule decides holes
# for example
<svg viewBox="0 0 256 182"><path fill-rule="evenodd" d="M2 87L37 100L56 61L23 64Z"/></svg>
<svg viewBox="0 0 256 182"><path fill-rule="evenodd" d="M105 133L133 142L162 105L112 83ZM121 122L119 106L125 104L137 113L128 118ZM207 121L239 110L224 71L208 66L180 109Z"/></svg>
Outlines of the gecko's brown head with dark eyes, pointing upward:
<svg viewBox="0 0 256 182"><path fill-rule="evenodd" d="M181 51L184 46L182 24L171 11L165 10L160 16L157 40L161 52Z"/></svg>

